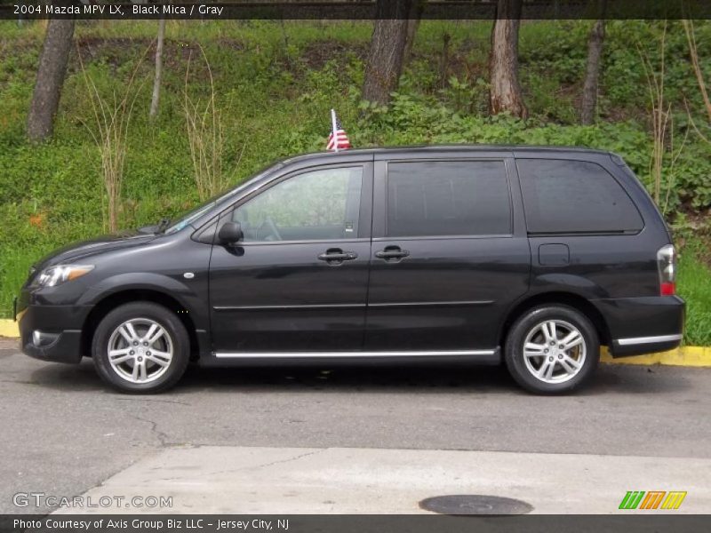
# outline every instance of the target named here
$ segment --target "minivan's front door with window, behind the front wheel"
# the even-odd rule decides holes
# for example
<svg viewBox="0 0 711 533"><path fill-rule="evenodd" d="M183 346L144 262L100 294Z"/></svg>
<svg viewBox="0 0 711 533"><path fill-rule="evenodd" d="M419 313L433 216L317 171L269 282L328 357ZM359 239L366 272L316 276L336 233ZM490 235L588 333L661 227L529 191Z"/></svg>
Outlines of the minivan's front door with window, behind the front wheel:
<svg viewBox="0 0 711 533"><path fill-rule="evenodd" d="M362 349L371 179L366 162L301 170L223 214L244 240L212 247L218 355Z"/></svg>

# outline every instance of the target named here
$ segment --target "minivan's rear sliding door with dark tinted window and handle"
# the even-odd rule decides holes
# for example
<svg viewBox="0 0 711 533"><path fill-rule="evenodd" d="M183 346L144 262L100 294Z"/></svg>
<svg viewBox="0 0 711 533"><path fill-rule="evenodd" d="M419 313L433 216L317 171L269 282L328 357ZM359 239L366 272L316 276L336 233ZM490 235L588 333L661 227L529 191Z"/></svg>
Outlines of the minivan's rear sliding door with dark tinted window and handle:
<svg viewBox="0 0 711 533"><path fill-rule="evenodd" d="M531 269L505 159L376 165L365 349L491 354Z"/></svg>

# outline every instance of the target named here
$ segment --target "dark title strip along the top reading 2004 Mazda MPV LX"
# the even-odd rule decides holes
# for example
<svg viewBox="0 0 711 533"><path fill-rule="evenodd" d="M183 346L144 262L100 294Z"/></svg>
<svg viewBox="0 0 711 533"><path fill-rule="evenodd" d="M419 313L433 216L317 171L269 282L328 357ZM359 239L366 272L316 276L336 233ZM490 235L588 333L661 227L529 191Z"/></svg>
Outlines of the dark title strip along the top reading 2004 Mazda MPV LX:
<svg viewBox="0 0 711 533"><path fill-rule="evenodd" d="M377 9L376 0L332 0L312 2L145 3L103 2L101 0L0 0L0 19L77 19L77 20L374 20L402 18L398 0L389 0ZM421 15L428 20L492 20L496 0L424 0ZM149 7L137 10L135 5ZM24 6L24 7L23 7ZM164 6L169 6L164 11ZM202 6L202 9L201 9ZM101 9L103 8L103 9ZM215 12L211 8L221 8ZM595 20L600 18L599 0L523 0L524 20ZM604 18L608 20L711 19L707 0L607 0Z"/></svg>

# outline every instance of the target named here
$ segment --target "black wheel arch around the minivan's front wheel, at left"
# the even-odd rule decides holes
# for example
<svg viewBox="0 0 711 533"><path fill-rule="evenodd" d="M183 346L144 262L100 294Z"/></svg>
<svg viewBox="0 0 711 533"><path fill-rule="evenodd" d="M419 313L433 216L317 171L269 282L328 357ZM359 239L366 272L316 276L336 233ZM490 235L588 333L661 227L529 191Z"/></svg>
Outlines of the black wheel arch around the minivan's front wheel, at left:
<svg viewBox="0 0 711 533"><path fill-rule="evenodd" d="M113 309L124 304L145 301L164 306L169 311L172 311L188 330L188 338L190 339L190 355L191 359L196 358L200 352L200 346L197 339L197 330L195 322L193 322L186 306L180 303L179 300L155 289L127 289L120 290L108 294L101 298L92 308L84 321L82 327L81 351L83 355L91 356L92 354L92 339L99 323Z"/></svg>

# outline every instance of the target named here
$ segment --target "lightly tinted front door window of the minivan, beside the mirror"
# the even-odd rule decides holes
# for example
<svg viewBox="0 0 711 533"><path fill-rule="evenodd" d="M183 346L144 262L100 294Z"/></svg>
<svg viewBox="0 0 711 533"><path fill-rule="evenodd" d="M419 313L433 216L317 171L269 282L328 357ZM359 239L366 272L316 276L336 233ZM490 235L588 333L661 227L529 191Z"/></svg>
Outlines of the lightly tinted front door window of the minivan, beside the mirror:
<svg viewBox="0 0 711 533"><path fill-rule="evenodd" d="M363 167L309 171L277 183L232 212L245 243L356 238Z"/></svg>

